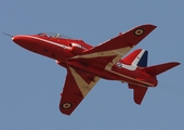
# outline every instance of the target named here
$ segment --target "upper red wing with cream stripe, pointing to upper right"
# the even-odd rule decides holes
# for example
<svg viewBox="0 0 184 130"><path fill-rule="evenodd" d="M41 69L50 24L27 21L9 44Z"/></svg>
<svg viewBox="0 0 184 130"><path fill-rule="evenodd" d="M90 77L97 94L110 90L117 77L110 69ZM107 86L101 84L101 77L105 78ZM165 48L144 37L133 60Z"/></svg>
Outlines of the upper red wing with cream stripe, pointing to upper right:
<svg viewBox="0 0 184 130"><path fill-rule="evenodd" d="M134 46L143 40L150 31L156 28L155 25L142 25L127 32L93 48L81 55L71 57L93 65L101 65L106 69L110 69L122 56L124 56Z"/></svg>

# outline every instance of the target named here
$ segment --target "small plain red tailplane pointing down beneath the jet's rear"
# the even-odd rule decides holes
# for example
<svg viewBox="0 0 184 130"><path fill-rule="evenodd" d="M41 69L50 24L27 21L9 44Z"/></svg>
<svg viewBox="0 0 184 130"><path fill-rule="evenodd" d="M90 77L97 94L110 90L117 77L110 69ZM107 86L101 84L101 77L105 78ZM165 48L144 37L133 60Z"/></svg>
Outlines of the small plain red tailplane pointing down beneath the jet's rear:
<svg viewBox="0 0 184 130"><path fill-rule="evenodd" d="M148 88L129 83L129 89L133 89L134 102L140 105Z"/></svg>

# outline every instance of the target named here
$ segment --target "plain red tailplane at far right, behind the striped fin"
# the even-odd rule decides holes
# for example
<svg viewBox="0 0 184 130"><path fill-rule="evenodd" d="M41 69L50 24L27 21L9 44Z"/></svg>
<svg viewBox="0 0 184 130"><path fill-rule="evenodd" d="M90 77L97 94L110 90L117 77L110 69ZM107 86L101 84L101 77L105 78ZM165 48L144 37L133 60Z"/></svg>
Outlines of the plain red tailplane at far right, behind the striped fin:
<svg viewBox="0 0 184 130"><path fill-rule="evenodd" d="M180 63L170 62L170 63L165 63L165 64L145 67L144 70L152 76L157 76L157 75L159 75L159 74L161 74L161 73L163 73L168 69L171 69L171 68L173 68L178 65L180 65Z"/></svg>

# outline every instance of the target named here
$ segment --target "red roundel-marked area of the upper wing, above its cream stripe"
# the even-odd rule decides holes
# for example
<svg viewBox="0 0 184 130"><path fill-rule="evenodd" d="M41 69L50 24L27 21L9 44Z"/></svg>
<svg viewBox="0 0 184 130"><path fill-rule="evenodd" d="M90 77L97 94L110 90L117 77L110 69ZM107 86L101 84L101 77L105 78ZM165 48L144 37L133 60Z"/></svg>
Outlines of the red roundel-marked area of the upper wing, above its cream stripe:
<svg viewBox="0 0 184 130"><path fill-rule="evenodd" d="M117 50L127 47L133 48L141 40L143 40L149 32L152 32L155 28L156 26L150 24L137 26L133 29L128 30L127 32L121 32L119 34L119 36L90 49L89 51L84 52L84 54Z"/></svg>

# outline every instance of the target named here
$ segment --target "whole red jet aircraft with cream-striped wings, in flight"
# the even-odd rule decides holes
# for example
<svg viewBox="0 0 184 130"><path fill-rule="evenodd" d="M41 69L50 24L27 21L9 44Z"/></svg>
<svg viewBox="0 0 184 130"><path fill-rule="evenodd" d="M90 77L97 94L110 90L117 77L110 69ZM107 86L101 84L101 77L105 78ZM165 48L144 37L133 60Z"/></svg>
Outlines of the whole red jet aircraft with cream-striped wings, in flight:
<svg viewBox="0 0 184 130"><path fill-rule="evenodd" d="M127 82L129 89L133 89L134 102L141 104L147 89L157 86L156 76L180 65L170 62L147 67L148 52L143 49L121 58L155 28L154 25L142 25L94 48L60 34L17 35L12 40L31 52L55 60L67 69L60 110L70 115L100 78Z"/></svg>

